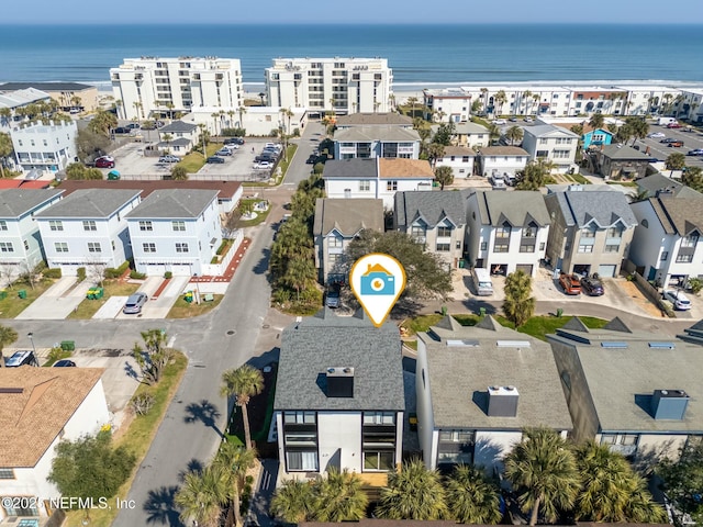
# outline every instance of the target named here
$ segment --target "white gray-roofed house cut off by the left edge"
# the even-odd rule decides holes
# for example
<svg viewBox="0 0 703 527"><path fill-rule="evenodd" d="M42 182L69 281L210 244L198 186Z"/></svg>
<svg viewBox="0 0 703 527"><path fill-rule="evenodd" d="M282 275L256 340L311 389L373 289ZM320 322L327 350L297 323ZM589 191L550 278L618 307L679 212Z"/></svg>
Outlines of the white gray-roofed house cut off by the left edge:
<svg viewBox="0 0 703 527"><path fill-rule="evenodd" d="M63 194L58 189L0 190L0 273L2 287L44 260L40 228L34 214L52 206Z"/></svg>

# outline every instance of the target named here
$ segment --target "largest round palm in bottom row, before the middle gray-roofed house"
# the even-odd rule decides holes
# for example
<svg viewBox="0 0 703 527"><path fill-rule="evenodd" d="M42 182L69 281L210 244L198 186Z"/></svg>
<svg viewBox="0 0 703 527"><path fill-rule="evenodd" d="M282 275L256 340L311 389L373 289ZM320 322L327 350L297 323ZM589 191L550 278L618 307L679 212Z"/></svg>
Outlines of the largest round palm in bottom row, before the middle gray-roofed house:
<svg viewBox="0 0 703 527"><path fill-rule="evenodd" d="M554 523L559 509L573 506L580 489L571 448L549 428L523 431L521 442L505 457L505 478L517 490L523 511L532 511L531 526L539 512Z"/></svg>

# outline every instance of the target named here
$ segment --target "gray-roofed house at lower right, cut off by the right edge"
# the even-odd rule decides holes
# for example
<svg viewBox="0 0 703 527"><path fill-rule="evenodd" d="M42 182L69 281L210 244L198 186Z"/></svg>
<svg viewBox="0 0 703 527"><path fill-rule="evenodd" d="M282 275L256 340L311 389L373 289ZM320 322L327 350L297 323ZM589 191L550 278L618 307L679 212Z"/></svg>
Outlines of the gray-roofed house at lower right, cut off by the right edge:
<svg viewBox="0 0 703 527"><path fill-rule="evenodd" d="M635 332L620 318L601 329L572 318L547 340L576 442L651 460L703 437L700 346Z"/></svg>

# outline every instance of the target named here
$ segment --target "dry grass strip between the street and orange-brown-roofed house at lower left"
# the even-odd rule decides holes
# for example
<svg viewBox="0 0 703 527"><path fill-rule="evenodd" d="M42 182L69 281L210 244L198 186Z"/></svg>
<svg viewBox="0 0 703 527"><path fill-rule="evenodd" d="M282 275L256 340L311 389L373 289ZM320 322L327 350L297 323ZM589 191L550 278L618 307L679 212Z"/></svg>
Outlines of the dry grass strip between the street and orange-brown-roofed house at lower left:
<svg viewBox="0 0 703 527"><path fill-rule="evenodd" d="M132 486L132 481L134 480L134 475L136 474L137 469L142 464L142 460L144 456L146 456L152 441L154 440L154 436L156 435L156 430L158 429L161 421L164 419L164 415L166 414L166 408L170 403L180 381L186 372L186 367L188 366L188 359L183 354L176 354L174 357L174 361L166 367L166 371L164 372L164 377L161 381L156 386L147 386L146 384L141 384L140 388L136 389L135 395L141 393L150 393L154 395L154 406L152 411L147 415L136 416L127 430L116 441L116 446L125 446L130 451L132 451L136 456L136 463L134 466L134 472L130 476L130 479L120 487L118 491L118 497L121 500L126 500L127 492ZM113 500L110 500L111 503L114 503ZM138 507L143 507L144 504L137 504ZM112 507L111 509L91 509L90 511L90 525L91 527L109 527L114 522L114 518L118 516L119 509ZM65 527L80 527L81 520L85 518L85 514L82 511L72 511L68 513L66 516Z"/></svg>

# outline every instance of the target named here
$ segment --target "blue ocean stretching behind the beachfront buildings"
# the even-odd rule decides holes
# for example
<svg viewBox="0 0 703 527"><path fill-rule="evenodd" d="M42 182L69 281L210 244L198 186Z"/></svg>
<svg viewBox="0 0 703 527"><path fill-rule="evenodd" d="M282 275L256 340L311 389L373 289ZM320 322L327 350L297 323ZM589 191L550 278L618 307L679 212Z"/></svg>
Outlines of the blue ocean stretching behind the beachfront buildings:
<svg viewBox="0 0 703 527"><path fill-rule="evenodd" d="M140 56L239 58L264 86L276 57L383 57L394 87L504 81L703 81L701 25L0 25L0 81L109 89Z"/></svg>

